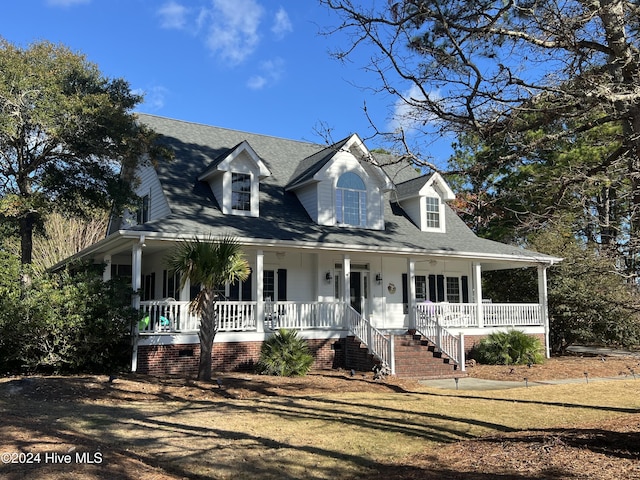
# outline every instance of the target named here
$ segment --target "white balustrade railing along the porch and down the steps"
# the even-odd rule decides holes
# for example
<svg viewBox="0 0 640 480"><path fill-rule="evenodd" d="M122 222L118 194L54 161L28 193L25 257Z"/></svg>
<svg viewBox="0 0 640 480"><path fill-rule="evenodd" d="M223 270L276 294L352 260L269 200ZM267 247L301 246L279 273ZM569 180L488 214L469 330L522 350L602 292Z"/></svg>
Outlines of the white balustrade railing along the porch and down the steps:
<svg viewBox="0 0 640 480"><path fill-rule="evenodd" d="M161 342L162 337L191 335L197 338L200 319L189 302L174 299L140 302L141 318L136 328L139 343ZM415 332L432 342L455 364L465 370L465 335L482 337L496 330L519 328L544 335L545 315L539 304L451 304L421 303L415 306L415 322L401 329L379 329L346 302L216 302L219 333L234 338L266 338L278 329L293 329L303 335L324 332L342 338L353 336L390 374L395 374L394 336ZM546 335L545 335L546 336ZM134 360L135 362L136 360Z"/></svg>

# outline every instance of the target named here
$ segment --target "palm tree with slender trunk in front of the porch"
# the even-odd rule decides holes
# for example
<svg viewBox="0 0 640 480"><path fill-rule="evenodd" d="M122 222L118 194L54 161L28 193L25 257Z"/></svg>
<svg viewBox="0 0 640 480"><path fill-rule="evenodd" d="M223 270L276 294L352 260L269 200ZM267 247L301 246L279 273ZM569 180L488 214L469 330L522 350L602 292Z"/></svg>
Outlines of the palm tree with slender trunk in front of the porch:
<svg viewBox="0 0 640 480"><path fill-rule="evenodd" d="M201 285L200 292L189 304L189 311L200 316L198 380L211 380L211 351L218 333L217 291L226 283L246 280L249 263L240 244L232 237L217 241L194 238L182 242L169 254L167 267L180 275L181 288L187 279L192 285Z"/></svg>

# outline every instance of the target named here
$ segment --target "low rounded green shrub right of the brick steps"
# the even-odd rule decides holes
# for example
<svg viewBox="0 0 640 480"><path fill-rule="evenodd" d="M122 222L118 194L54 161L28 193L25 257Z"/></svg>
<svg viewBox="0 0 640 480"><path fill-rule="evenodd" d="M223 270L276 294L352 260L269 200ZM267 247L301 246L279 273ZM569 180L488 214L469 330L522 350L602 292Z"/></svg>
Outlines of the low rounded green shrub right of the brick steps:
<svg viewBox="0 0 640 480"><path fill-rule="evenodd" d="M520 330L495 332L483 338L471 356L487 365L524 365L544 362L544 347Z"/></svg>

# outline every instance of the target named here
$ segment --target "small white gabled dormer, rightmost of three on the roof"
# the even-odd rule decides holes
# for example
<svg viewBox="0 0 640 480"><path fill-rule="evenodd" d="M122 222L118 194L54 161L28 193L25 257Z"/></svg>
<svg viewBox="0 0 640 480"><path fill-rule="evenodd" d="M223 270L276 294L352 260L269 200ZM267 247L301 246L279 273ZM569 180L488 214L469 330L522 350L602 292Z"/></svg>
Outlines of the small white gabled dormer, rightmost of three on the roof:
<svg viewBox="0 0 640 480"><path fill-rule="evenodd" d="M423 232L446 233L445 202L455 198L439 173L400 183L396 202Z"/></svg>

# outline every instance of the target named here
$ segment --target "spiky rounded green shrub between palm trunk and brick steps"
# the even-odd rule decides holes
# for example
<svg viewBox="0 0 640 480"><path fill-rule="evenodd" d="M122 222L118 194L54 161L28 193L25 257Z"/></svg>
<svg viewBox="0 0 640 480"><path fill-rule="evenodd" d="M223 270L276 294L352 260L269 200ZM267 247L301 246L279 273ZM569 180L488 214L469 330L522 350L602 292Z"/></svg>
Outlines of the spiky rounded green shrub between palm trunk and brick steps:
<svg viewBox="0 0 640 480"><path fill-rule="evenodd" d="M307 341L296 331L280 329L260 349L258 371L266 375L296 377L306 375L313 364Z"/></svg>

